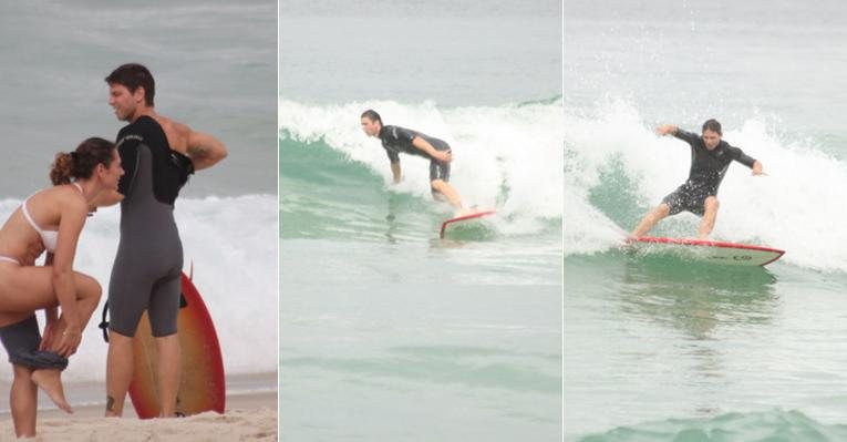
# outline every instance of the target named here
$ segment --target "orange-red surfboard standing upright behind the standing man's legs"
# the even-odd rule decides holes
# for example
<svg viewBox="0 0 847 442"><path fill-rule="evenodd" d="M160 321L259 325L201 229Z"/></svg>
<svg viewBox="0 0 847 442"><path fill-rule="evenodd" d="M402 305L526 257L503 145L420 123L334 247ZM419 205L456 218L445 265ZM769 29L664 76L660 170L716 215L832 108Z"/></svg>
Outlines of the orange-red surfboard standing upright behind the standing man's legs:
<svg viewBox="0 0 847 442"><path fill-rule="evenodd" d="M183 297L177 316L183 372L177 393L176 411L184 415L204 411L223 413L226 405L224 359L206 305L190 278L182 276ZM130 399L141 419L159 414L156 364L156 342L151 335L145 311L133 339L133 380Z"/></svg>

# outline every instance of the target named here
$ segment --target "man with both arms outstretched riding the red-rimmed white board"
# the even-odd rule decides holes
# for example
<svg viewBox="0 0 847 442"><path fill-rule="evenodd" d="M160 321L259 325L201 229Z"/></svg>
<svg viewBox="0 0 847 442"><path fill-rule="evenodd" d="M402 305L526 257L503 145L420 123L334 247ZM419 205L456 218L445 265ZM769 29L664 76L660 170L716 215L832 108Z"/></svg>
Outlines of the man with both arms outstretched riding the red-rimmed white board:
<svg viewBox="0 0 847 442"><path fill-rule="evenodd" d="M714 228L717 217L717 187L730 167L737 161L753 169L753 175L764 175L762 163L751 158L738 147L721 140L721 123L709 120L703 123L703 133L698 136L674 125L667 124L655 130L660 135L672 134L691 146L691 171L689 179L676 191L665 196L662 204L647 214L632 230L636 238L644 236L662 218L682 210L702 216L698 237L705 239Z"/></svg>

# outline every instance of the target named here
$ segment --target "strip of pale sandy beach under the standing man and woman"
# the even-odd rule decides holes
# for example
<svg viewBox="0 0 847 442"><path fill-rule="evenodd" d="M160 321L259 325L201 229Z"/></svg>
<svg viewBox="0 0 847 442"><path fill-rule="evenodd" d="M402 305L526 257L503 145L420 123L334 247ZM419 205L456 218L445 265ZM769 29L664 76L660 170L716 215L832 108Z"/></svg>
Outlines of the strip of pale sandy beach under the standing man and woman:
<svg viewBox="0 0 847 442"><path fill-rule="evenodd" d="M104 404L74 401L91 398L102 386L70 386L73 414L39 398L39 435L34 441L277 441L276 373L227 378L227 411L206 412L184 419L140 420L127 399L123 419L103 418ZM4 395L4 394L3 394ZM8 400L3 398L4 401ZM0 413L0 441L12 440L14 429L8 403ZM48 407L50 405L50 407Z"/></svg>

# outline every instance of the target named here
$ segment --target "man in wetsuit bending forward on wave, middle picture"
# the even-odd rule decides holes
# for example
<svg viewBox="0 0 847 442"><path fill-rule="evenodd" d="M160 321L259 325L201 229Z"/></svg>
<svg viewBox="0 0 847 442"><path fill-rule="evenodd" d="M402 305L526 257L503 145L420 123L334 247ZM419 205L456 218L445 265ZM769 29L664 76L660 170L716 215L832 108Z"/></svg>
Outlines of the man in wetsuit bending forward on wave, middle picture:
<svg viewBox="0 0 847 442"><path fill-rule="evenodd" d="M462 215L469 210L462 205L458 192L450 185L450 162L453 161L453 152L443 140L411 131L400 126L382 124L382 119L373 110L368 110L361 116L362 130L368 136L375 136L382 141L382 147L391 162L391 174L394 184L400 183L400 153L423 156L430 160L430 186L434 198L446 199Z"/></svg>

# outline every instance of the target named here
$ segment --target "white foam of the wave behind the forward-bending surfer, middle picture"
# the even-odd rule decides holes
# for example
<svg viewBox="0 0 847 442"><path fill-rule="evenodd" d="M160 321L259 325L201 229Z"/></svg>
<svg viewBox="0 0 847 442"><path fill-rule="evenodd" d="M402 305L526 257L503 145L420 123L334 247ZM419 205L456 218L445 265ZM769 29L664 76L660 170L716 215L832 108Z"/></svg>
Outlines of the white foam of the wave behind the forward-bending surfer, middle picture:
<svg viewBox="0 0 847 442"><path fill-rule="evenodd" d="M433 102L371 101L310 105L281 99L279 129L295 140L322 138L385 183L391 169L379 140L364 135L359 115L376 110L385 124L442 138L453 147L451 183L466 204L496 207L504 233L533 233L544 220L560 219L562 201L561 102L496 107L442 109ZM397 192L431 198L428 164L401 156ZM503 188L508 191L503 192Z"/></svg>

